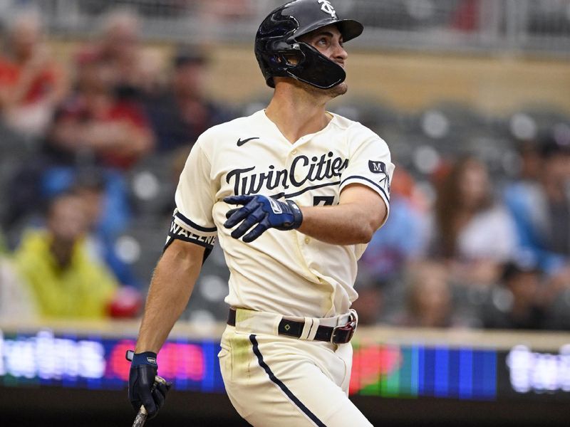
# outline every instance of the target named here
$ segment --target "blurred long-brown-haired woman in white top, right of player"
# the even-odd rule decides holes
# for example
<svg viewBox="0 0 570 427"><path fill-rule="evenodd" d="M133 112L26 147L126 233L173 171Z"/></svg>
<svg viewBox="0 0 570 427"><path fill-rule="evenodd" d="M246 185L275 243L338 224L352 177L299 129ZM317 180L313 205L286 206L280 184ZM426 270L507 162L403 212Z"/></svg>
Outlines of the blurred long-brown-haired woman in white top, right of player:
<svg viewBox="0 0 570 427"><path fill-rule="evenodd" d="M445 258L454 282L491 285L517 251L514 223L494 201L485 165L464 157L436 183L431 255Z"/></svg>

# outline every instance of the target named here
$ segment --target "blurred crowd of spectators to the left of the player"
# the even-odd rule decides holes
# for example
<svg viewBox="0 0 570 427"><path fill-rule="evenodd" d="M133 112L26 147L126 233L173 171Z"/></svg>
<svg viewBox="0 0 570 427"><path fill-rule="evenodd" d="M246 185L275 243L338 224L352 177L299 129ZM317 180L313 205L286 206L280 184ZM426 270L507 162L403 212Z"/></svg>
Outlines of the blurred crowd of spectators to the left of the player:
<svg viewBox="0 0 570 427"><path fill-rule="evenodd" d="M202 93L207 56L180 46L160 67L125 11L110 14L66 64L34 12L9 24L1 52L0 314L138 315L148 278L115 245L136 215L128 177L162 155L172 159L174 181L198 135L233 117Z"/></svg>

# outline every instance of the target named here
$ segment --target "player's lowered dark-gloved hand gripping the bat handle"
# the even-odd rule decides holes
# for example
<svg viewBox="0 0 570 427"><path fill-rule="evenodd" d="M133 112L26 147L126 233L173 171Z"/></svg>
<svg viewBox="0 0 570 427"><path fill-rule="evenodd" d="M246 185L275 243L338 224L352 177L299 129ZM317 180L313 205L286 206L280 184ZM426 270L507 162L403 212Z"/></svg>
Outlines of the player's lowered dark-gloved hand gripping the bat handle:
<svg viewBox="0 0 570 427"><path fill-rule="evenodd" d="M156 353L135 353L130 365L129 373L129 400L135 411L144 405L148 418L156 416L172 383L155 381L158 365Z"/></svg>

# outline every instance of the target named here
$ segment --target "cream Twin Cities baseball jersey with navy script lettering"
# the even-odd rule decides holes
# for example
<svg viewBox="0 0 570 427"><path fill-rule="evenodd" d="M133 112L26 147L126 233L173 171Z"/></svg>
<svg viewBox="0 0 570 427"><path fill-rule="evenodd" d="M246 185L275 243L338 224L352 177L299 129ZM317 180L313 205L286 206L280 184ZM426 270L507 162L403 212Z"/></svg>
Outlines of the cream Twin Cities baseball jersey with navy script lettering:
<svg viewBox="0 0 570 427"><path fill-rule="evenodd" d="M370 187L389 209L394 165L388 145L339 115L291 144L264 110L217 125L190 152L176 190L167 245L179 238L204 246L216 239L230 271L226 302L299 317L348 312L364 244L339 246L299 231L269 228L252 243L230 236L226 196L263 194L299 206L334 206L349 184ZM358 218L353 218L358 221Z"/></svg>

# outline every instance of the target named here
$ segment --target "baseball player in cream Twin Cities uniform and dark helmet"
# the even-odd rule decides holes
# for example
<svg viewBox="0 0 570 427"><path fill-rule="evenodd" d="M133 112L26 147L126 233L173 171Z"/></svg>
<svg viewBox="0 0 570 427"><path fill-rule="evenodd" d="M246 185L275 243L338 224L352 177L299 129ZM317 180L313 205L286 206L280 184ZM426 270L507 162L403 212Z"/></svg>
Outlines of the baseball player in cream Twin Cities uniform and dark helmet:
<svg viewBox="0 0 570 427"><path fill-rule="evenodd" d="M383 139L326 110L346 93L343 43L363 26L331 1L264 19L255 54L265 110L199 137L180 176L130 370L130 401L154 416L168 386L156 357L219 241L231 276L219 363L253 426L370 426L348 399L356 263L388 216L394 166Z"/></svg>

